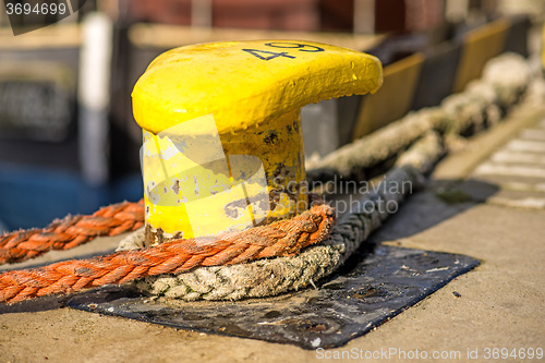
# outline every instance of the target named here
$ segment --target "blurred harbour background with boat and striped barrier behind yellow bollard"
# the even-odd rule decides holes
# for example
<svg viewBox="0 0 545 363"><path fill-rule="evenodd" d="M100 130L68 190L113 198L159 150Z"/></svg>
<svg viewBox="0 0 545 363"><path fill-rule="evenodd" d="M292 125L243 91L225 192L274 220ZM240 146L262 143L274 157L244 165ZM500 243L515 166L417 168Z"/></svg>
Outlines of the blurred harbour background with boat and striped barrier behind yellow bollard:
<svg viewBox="0 0 545 363"><path fill-rule="evenodd" d="M17 36L1 9L0 231L143 196L131 90L167 49L283 38L376 55L385 65L377 95L303 109L312 159L438 105L500 52L537 57L545 14L543 0L87 0L77 7Z"/></svg>

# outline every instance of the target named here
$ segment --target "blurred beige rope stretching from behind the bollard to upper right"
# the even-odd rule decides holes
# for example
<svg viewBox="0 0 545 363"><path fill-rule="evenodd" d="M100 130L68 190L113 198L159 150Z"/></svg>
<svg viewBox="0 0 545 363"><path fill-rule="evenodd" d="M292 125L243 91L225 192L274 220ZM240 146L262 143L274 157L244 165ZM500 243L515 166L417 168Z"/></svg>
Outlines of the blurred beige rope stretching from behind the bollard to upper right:
<svg viewBox="0 0 545 363"><path fill-rule="evenodd" d="M485 122L498 122L524 94L531 73L521 56L501 55L486 64L480 80L471 82L463 93L448 96L440 106L410 112L322 159L313 159L307 165L314 169L308 178L326 181L335 176L362 177L365 169L397 156L429 130L456 148L462 136L484 129Z"/></svg>

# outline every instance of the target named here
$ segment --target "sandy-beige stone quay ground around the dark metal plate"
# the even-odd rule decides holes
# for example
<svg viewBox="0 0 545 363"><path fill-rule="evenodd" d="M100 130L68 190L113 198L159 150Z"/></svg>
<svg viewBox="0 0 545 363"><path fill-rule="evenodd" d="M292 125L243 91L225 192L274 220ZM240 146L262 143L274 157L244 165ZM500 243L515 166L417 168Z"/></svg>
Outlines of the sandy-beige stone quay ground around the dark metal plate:
<svg viewBox="0 0 545 363"><path fill-rule="evenodd" d="M508 122L473 138L444 159L428 187L372 237L376 243L467 254L482 265L327 354L356 354L344 360L354 362L420 361L400 359L417 350L420 356L423 351L429 358L446 354L426 361L487 362L494 360L486 359L486 348L545 348L542 120L544 110L519 109ZM521 153L526 154L522 159ZM70 254L107 251L118 241L101 239ZM359 355L393 349L397 354L376 360ZM469 359L468 350L476 350L477 359ZM325 354L69 308L0 315L0 362L302 362L327 361Z"/></svg>

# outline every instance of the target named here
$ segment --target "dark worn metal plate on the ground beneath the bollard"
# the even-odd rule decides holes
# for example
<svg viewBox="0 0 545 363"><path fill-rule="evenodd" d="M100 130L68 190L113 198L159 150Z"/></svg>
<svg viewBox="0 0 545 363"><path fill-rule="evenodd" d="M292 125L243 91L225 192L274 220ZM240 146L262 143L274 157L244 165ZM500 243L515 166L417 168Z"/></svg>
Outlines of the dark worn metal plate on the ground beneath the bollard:
<svg viewBox="0 0 545 363"><path fill-rule="evenodd" d="M68 305L181 329L334 348L362 336L479 265L464 255L380 245L359 252L317 288L240 302L180 302L120 287L73 297Z"/></svg>

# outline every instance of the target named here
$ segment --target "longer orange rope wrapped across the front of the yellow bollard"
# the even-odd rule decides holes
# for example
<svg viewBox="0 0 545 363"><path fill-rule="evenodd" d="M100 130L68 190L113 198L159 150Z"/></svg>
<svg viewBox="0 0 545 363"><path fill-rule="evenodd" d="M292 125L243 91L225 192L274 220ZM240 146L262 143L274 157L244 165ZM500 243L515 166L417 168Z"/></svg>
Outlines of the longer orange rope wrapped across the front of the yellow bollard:
<svg viewBox="0 0 545 363"><path fill-rule="evenodd" d="M327 204L320 204L292 219L241 232L181 239L154 247L122 251L96 258L72 259L39 268L11 270L0 275L0 302L13 303L107 283L124 283L153 275L178 274L197 266L290 256L327 238L334 222L334 209Z"/></svg>

